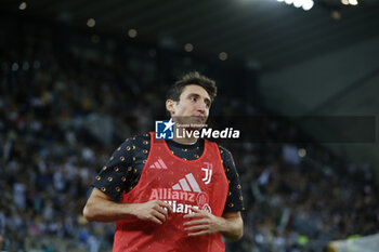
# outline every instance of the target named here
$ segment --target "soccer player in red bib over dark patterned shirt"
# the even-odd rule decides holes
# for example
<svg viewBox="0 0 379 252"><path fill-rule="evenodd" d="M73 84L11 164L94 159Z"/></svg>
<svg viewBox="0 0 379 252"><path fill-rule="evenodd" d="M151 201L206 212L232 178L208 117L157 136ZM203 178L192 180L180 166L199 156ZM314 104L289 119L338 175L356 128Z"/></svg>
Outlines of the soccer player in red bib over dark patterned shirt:
<svg viewBox="0 0 379 252"><path fill-rule="evenodd" d="M190 72L169 89L166 108L191 132L192 123L205 123L215 95L213 80ZM219 252L225 250L220 235L243 236L243 196L232 154L194 135L128 138L92 186L83 214L90 222L117 222L115 252Z"/></svg>

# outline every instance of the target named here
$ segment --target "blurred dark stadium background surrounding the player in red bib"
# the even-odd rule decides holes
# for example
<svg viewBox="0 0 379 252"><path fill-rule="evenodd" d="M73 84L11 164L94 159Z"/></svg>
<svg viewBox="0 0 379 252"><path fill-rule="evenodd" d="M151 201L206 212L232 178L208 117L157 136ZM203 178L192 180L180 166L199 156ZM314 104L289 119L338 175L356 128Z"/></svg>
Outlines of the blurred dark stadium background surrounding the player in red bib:
<svg viewBox="0 0 379 252"><path fill-rule="evenodd" d="M190 70L219 85L211 115L270 115L263 141L224 145L246 207L226 251L323 252L377 234L376 124L354 138L301 118L376 122L378 13L376 0L1 0L0 251L112 251L115 226L81 214L91 182L154 130Z"/></svg>

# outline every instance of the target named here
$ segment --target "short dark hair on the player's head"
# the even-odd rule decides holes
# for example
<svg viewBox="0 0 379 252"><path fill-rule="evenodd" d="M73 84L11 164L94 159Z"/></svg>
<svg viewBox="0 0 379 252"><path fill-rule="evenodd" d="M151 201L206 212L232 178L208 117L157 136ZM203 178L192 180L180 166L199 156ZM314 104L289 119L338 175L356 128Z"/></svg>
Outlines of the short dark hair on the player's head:
<svg viewBox="0 0 379 252"><path fill-rule="evenodd" d="M210 96L210 101L213 102L218 88L215 87L215 81L209 79L206 76L201 76L198 71L191 71L182 76L175 83L173 83L167 91L167 100L172 100L179 102L180 95L183 89L190 84L197 84L204 88Z"/></svg>

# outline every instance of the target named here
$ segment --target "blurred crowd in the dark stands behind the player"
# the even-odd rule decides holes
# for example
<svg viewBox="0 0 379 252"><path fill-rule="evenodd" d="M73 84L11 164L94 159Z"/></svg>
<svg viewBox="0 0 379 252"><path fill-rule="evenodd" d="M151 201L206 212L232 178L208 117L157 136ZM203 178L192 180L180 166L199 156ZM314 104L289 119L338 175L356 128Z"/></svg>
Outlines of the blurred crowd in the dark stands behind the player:
<svg viewBox="0 0 379 252"><path fill-rule="evenodd" d="M151 65L139 56L125 64L117 50L88 52L88 43L102 43L93 35L52 40L52 27L26 23L2 32L0 251L110 251L114 225L89 224L81 215L91 182L121 137L154 130L173 79L152 71L159 63L151 49L139 54ZM218 115L261 112L243 97L217 100ZM302 134L278 120L258 128L270 137ZM225 147L246 207L244 238L226 242L226 251L325 251L330 240L378 231L369 163L344 161L316 144Z"/></svg>

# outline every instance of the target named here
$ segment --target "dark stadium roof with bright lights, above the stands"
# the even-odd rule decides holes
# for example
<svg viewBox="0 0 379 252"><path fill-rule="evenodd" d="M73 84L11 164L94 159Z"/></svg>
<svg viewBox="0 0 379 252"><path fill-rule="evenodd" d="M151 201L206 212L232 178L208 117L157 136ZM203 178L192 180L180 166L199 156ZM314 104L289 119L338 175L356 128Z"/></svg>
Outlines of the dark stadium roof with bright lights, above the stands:
<svg viewBox="0 0 379 252"><path fill-rule="evenodd" d="M313 1L313 8L304 11L276 0L29 0L24 11L82 27L93 18L96 30L128 37L128 30L134 29L138 41L169 41L179 50L191 43L193 53L218 58L225 52L231 61L266 70L377 34L377 0L358 0L357 5L341 3L351 0ZM21 2L3 0L1 9L18 11Z"/></svg>

